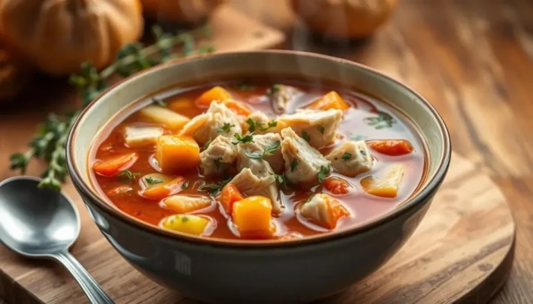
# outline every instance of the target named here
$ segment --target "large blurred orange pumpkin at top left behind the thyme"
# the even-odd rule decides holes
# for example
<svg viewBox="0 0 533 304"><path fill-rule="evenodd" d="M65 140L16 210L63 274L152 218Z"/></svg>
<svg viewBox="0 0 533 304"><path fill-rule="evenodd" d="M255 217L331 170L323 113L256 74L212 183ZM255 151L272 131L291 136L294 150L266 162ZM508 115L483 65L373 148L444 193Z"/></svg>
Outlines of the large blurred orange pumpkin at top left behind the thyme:
<svg viewBox="0 0 533 304"><path fill-rule="evenodd" d="M2 0L0 20L2 42L56 75L108 66L144 28L137 0Z"/></svg>

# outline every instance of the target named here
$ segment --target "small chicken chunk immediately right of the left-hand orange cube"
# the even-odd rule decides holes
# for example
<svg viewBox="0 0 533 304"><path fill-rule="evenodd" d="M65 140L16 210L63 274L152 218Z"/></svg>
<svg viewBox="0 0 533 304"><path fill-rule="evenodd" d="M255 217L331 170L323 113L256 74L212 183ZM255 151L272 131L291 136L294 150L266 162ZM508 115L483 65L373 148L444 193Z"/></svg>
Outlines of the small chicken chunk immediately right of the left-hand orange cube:
<svg viewBox="0 0 533 304"><path fill-rule="evenodd" d="M221 175L235 162L237 148L231 141L231 138L219 135L200 153L200 171L203 175Z"/></svg>

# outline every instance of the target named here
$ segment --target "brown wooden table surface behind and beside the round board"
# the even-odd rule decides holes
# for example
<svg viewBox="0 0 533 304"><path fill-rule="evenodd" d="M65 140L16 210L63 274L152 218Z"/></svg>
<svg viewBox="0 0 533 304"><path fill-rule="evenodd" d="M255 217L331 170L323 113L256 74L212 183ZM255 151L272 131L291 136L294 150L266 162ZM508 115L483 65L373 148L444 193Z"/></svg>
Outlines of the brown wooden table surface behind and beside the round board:
<svg viewBox="0 0 533 304"><path fill-rule="evenodd" d="M403 0L364 44L325 46L301 30L285 0L232 0L284 28L284 48L327 53L382 69L422 93L448 123L453 149L502 188L514 212L516 262L494 303L533 303L533 3L529 0ZM0 179L49 111L78 105L65 80L40 77L0 109ZM32 163L37 174L42 164ZM0 300L1 302L1 300Z"/></svg>

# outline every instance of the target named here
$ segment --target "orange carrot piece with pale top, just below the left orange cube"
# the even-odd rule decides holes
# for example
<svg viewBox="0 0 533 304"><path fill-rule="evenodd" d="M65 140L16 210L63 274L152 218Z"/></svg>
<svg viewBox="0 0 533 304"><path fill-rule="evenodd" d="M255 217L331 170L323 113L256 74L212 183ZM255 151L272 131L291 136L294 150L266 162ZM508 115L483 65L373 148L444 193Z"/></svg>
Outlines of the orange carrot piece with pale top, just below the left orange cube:
<svg viewBox="0 0 533 304"><path fill-rule="evenodd" d="M159 201L182 190L185 182L183 177L169 177L159 173L144 175L141 179L142 190L139 195L147 199Z"/></svg>

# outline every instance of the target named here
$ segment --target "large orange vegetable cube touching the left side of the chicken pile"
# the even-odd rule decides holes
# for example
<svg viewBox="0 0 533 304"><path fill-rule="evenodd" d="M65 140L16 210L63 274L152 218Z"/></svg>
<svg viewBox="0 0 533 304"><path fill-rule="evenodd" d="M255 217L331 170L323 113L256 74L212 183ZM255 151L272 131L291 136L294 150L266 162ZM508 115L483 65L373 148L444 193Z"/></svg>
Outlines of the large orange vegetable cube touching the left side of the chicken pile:
<svg viewBox="0 0 533 304"><path fill-rule="evenodd" d="M159 136L155 159L165 173L193 170L200 163L200 147L191 136Z"/></svg>

